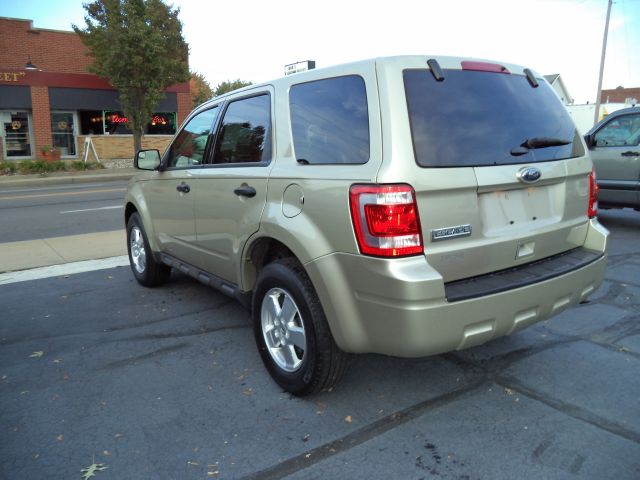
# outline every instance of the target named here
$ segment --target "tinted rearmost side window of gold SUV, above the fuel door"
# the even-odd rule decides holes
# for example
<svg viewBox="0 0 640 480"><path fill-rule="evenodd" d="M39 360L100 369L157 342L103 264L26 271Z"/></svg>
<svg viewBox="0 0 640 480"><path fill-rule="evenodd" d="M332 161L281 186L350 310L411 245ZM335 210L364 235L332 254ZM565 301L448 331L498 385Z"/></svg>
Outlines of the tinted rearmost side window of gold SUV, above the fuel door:
<svg viewBox="0 0 640 480"><path fill-rule="evenodd" d="M289 104L298 161L369 161L369 111L362 77L350 75L293 85Z"/></svg>

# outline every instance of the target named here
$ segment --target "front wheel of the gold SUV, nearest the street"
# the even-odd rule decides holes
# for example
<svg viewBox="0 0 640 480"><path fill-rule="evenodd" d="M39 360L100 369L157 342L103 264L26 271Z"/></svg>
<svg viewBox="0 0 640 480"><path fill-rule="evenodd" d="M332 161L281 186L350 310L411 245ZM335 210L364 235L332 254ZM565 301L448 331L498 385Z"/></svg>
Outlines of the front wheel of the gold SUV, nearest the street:
<svg viewBox="0 0 640 480"><path fill-rule="evenodd" d="M169 279L171 268L155 260L137 212L127 222L127 252L133 276L141 285L155 287Z"/></svg>

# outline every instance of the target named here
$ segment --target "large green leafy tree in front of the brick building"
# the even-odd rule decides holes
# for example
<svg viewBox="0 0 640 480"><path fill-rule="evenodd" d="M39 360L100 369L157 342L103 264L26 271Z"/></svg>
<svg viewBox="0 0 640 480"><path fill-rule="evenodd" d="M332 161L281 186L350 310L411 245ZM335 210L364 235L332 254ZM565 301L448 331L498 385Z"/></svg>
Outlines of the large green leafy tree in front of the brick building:
<svg viewBox="0 0 640 480"><path fill-rule="evenodd" d="M73 30L93 57L89 71L118 91L137 151L167 87L189 80L180 9L161 0L95 0L84 8L85 28Z"/></svg>

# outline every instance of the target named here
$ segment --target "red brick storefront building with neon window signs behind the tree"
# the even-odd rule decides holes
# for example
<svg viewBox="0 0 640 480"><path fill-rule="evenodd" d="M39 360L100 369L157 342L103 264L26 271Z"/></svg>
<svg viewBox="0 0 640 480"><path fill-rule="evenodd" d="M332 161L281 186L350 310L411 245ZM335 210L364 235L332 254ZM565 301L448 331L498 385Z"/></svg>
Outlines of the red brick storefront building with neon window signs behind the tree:
<svg viewBox="0 0 640 480"><path fill-rule="evenodd" d="M74 32L0 17L0 161L33 159L52 147L63 159L80 159L88 138L100 159L132 156L117 92L87 73L90 63ZM190 109L188 82L168 88L143 146L164 150Z"/></svg>

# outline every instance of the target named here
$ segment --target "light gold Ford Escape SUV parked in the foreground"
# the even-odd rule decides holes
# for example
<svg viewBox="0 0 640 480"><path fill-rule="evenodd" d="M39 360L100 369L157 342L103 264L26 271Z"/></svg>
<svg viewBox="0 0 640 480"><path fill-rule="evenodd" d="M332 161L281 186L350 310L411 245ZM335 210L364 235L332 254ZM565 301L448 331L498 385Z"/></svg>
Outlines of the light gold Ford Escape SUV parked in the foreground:
<svg viewBox="0 0 640 480"><path fill-rule="evenodd" d="M291 75L199 106L135 165L138 282L176 269L247 305L296 395L334 385L352 353L509 335L605 272L584 141L516 65L406 56Z"/></svg>

